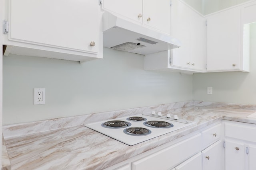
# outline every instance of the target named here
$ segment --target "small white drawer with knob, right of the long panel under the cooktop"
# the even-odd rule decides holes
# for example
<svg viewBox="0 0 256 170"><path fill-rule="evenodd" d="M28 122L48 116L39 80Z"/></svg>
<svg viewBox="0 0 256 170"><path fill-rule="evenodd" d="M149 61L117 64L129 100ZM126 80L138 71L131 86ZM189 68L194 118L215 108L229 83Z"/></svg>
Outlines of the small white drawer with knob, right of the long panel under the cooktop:
<svg viewBox="0 0 256 170"><path fill-rule="evenodd" d="M212 143L218 141L221 135L221 124L215 125L202 131L202 147L208 147Z"/></svg>

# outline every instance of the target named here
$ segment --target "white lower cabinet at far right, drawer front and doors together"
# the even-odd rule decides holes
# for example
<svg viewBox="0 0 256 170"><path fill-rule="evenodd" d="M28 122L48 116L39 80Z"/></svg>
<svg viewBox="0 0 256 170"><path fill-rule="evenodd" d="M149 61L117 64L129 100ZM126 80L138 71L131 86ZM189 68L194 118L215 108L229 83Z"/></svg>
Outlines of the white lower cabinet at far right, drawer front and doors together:
<svg viewBox="0 0 256 170"><path fill-rule="evenodd" d="M256 125L224 121L225 170L256 170Z"/></svg>

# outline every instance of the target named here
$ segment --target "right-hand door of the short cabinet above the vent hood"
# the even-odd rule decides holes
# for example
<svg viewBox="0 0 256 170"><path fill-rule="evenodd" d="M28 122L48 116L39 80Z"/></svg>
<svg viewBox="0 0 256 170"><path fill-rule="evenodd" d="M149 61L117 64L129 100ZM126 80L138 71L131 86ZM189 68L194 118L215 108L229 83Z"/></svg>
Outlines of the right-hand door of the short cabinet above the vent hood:
<svg viewBox="0 0 256 170"><path fill-rule="evenodd" d="M164 33L170 34L170 0L144 0L143 23Z"/></svg>

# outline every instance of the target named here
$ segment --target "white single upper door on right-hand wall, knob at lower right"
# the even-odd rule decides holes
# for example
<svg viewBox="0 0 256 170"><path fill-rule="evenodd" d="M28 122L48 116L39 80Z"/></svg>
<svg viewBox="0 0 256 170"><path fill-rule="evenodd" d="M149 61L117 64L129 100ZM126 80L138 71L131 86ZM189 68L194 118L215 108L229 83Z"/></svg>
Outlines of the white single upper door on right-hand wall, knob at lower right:
<svg viewBox="0 0 256 170"><path fill-rule="evenodd" d="M207 70L238 70L241 53L240 8L207 17Z"/></svg>

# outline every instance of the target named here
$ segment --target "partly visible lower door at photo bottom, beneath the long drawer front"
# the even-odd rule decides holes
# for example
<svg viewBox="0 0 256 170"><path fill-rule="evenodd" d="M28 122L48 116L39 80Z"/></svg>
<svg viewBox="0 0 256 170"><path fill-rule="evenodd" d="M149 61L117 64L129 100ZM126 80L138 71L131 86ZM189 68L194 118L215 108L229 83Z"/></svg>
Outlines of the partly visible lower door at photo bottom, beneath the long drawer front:
<svg viewBox="0 0 256 170"><path fill-rule="evenodd" d="M182 164L175 167L175 170L202 170L202 154L192 156Z"/></svg>

